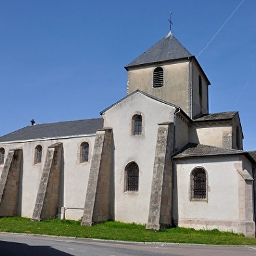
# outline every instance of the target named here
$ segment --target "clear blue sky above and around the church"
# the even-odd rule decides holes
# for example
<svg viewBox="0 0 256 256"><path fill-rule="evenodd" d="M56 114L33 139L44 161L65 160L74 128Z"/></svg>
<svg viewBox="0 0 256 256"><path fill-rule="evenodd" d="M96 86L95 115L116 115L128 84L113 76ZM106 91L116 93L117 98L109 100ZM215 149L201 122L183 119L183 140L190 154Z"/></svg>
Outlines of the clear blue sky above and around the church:
<svg viewBox="0 0 256 256"><path fill-rule="evenodd" d="M210 112L239 110L256 150L255 0L1 0L0 136L99 118L125 96L125 65L172 33L206 72Z"/></svg>

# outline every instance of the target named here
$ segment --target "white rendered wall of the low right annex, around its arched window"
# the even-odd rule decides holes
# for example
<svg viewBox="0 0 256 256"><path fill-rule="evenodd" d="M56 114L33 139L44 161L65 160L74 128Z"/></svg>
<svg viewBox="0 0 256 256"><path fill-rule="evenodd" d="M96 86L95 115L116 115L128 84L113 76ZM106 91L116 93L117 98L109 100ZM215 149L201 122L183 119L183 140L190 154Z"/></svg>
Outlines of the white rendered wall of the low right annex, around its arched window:
<svg viewBox="0 0 256 256"><path fill-rule="evenodd" d="M179 225L197 229L232 229L239 232L236 227L240 220L240 174L236 170L237 164L240 164L239 157L178 160L176 172ZM205 201L192 201L189 197L190 174L196 167L204 168L208 174L208 199Z"/></svg>

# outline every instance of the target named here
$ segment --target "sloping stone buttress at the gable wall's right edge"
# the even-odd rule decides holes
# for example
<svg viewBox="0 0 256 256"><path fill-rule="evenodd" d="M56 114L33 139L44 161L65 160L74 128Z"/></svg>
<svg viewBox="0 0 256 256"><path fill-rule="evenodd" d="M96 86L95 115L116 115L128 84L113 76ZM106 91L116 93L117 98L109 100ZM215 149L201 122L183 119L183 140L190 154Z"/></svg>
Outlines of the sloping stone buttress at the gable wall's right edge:
<svg viewBox="0 0 256 256"><path fill-rule="evenodd" d="M159 124L147 229L159 230L172 223L173 123Z"/></svg>

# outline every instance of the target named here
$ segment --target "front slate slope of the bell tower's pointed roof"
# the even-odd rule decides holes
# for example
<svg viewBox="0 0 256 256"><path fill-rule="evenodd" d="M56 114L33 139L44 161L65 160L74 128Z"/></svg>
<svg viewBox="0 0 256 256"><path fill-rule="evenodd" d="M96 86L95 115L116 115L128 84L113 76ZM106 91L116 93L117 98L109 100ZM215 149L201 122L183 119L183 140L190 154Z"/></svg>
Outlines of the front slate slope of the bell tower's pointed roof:
<svg viewBox="0 0 256 256"><path fill-rule="evenodd" d="M190 52L176 39L176 37L171 33L168 33L166 37L159 40L159 42L146 50L146 52L138 56L134 61L129 63L127 67L182 59L191 56Z"/></svg>

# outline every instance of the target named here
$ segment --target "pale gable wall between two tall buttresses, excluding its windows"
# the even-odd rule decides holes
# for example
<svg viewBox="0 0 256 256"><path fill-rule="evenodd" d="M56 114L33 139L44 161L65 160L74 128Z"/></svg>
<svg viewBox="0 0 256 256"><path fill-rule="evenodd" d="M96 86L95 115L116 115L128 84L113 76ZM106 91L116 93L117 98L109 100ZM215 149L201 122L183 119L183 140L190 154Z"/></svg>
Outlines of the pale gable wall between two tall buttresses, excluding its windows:
<svg viewBox="0 0 256 256"><path fill-rule="evenodd" d="M174 109L135 93L103 115L104 127L112 128L114 138L116 221L147 223L158 123L173 122ZM142 135L131 135L134 114L142 115ZM133 161L139 167L138 192L125 191L125 167Z"/></svg>

